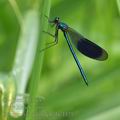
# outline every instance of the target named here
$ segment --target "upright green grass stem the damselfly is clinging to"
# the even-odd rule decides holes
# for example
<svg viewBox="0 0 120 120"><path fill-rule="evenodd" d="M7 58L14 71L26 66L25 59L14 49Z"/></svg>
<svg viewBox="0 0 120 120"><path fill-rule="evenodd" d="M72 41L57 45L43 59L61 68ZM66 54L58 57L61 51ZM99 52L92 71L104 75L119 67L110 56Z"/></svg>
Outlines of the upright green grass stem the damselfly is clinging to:
<svg viewBox="0 0 120 120"><path fill-rule="evenodd" d="M29 87L30 101L29 101L26 120L33 120L35 117L34 113L36 113L36 110L37 110L35 101L36 101L36 98L38 97L37 95L38 95L43 56L44 56L44 52L40 53L40 49L42 49L45 44L46 36L43 33L43 30L47 30L48 21L44 16L48 15L49 11L50 11L50 0L42 0L40 4L41 15L40 15L40 24L39 24L39 42L38 42L37 53L36 53L35 62L34 62L34 68L32 71L31 84Z"/></svg>

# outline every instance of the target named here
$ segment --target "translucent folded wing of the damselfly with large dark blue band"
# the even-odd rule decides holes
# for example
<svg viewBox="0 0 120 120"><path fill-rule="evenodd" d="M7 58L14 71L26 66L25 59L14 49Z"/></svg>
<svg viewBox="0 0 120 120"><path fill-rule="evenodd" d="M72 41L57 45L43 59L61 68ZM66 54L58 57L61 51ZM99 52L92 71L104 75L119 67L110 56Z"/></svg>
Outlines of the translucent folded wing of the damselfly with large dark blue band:
<svg viewBox="0 0 120 120"><path fill-rule="evenodd" d="M103 48L84 38L72 28L68 28L68 34L73 44L82 54L86 55L87 57L101 61L108 58L108 54Z"/></svg>

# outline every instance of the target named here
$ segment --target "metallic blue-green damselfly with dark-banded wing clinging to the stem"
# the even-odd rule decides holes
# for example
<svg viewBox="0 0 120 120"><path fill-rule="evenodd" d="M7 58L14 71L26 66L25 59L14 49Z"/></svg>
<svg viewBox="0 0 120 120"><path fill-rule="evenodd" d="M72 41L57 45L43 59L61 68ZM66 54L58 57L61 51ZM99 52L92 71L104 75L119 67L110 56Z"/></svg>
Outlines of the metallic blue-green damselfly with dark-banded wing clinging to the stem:
<svg viewBox="0 0 120 120"><path fill-rule="evenodd" d="M63 32L64 37L67 41L67 44L70 48L70 51L73 55L73 58L79 68L79 71L83 77L84 82L86 83L86 85L88 85L88 81L85 75L85 72L80 64L80 61L78 60L74 49L72 47L71 42L75 45L75 47L85 56L90 57L92 59L96 59L99 61L103 61L106 60L108 58L108 54L107 52L101 48L100 46L98 46L97 44L91 42L90 40L88 40L87 38L85 38L84 36L82 36L81 34L79 34L76 30L74 30L73 28L69 27L67 24L63 23L60 21L59 17L55 17L54 20L48 20L50 24L55 25L55 34L52 35L48 32L48 34L52 35L55 37L55 40L53 42L53 45L56 45L58 43L58 31L59 29ZM71 40L71 41L70 41ZM51 47L49 46L49 47ZM47 47L47 48L49 48Z"/></svg>

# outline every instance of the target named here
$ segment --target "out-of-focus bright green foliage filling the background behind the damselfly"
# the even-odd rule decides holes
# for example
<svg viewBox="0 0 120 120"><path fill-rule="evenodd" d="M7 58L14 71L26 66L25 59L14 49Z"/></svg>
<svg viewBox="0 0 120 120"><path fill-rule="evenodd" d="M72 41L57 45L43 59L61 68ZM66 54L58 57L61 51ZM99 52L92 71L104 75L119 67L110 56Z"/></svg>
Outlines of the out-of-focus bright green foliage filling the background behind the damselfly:
<svg viewBox="0 0 120 120"><path fill-rule="evenodd" d="M24 13L29 1L17 0ZM75 61L59 32L59 44L45 51L38 96L43 96L45 120L119 120L120 119L120 13L116 0L52 0L50 18L61 21L105 48L107 61L99 62L76 54L84 68L86 87ZM40 11L41 12L41 11ZM49 26L49 31L54 29ZM8 1L0 1L0 70L13 66L20 26ZM47 36L47 35L46 35ZM46 42L53 41L49 36ZM41 103L38 103L41 106ZM37 109L37 106L36 106Z"/></svg>

